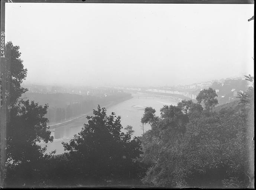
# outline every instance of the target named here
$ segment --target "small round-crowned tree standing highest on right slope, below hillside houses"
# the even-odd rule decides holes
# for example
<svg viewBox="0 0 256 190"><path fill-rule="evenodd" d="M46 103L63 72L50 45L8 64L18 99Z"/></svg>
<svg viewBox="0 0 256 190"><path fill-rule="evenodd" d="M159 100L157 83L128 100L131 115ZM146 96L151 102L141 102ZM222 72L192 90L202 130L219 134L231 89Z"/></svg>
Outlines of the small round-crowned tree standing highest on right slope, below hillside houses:
<svg viewBox="0 0 256 190"><path fill-rule="evenodd" d="M198 104L201 104L201 102L203 102L205 109L210 110L211 108L212 111L213 107L218 104L218 100L216 97L218 97L216 91L212 88L208 88L200 91L196 99Z"/></svg>

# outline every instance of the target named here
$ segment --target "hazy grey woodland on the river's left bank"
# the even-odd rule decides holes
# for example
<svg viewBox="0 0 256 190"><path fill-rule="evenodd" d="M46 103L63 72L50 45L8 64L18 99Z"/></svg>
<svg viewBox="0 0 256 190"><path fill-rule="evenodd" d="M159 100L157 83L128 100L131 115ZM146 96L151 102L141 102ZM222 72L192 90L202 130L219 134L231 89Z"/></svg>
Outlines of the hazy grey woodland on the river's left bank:
<svg viewBox="0 0 256 190"><path fill-rule="evenodd" d="M65 119L85 114L97 107L98 104L106 104L110 101L120 101L131 97L131 94L116 92L104 98L95 96L81 96L76 94L39 94L26 92L26 98L36 101L41 105L49 104L46 118L49 122L61 122Z"/></svg>

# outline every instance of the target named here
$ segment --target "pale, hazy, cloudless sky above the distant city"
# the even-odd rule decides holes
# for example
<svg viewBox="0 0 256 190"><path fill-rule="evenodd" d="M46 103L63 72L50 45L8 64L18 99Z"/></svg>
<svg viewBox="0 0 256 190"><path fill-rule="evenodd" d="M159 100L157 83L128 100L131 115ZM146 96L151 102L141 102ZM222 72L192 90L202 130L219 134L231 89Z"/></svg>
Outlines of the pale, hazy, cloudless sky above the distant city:
<svg viewBox="0 0 256 190"><path fill-rule="evenodd" d="M6 3L26 82L184 85L253 74L253 4Z"/></svg>

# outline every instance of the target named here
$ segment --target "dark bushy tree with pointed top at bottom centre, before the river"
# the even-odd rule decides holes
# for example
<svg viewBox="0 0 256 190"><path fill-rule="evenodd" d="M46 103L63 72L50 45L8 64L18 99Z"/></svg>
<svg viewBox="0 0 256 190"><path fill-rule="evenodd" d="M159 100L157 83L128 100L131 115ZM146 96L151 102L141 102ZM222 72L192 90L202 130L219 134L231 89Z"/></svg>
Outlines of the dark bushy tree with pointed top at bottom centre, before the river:
<svg viewBox="0 0 256 190"><path fill-rule="evenodd" d="M99 105L93 114L87 116L88 124L84 124L78 135L69 143L62 143L64 150L69 151L69 161L77 163L74 164L75 178L80 181L97 179L95 183L103 183L138 177L140 172L136 167L140 167L136 158L142 152L138 138L130 141L132 127L126 127L126 134L121 132L121 117L113 112L107 116L106 109ZM132 168L135 169L133 175Z"/></svg>

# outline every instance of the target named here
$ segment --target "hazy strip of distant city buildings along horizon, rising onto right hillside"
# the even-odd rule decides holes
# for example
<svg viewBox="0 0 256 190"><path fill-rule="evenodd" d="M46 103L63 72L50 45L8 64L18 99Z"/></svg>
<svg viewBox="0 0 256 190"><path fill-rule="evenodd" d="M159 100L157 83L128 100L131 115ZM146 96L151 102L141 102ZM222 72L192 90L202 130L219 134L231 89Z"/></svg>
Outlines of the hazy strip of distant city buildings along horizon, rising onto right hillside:
<svg viewBox="0 0 256 190"><path fill-rule="evenodd" d="M218 97L219 105L231 102L237 99L238 93L243 93L249 86L252 86L245 78L227 78L219 79L207 82L192 83L189 85L178 86L163 86L163 87L149 87L139 88L135 86L103 86L103 87L63 87L56 85L22 85L27 88L31 93L39 94L55 94L55 93L69 93L78 94L82 96L98 96L107 97L108 95L117 92L136 93L140 91L157 92L163 94L178 94L188 97L190 99L196 99L198 93L202 89L208 89L209 87L215 89Z"/></svg>

